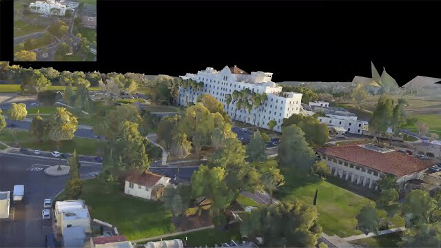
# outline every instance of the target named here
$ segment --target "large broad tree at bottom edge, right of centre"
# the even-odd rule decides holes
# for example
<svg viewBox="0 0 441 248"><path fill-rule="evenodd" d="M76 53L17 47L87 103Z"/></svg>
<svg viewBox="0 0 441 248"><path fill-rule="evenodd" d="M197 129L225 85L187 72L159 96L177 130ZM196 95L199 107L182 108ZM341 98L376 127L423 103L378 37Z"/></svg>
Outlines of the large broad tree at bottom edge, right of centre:
<svg viewBox="0 0 441 248"><path fill-rule="evenodd" d="M240 232L250 239L263 236L267 247L314 247L322 227L316 207L295 201L245 213Z"/></svg>

